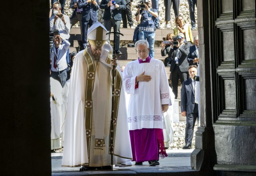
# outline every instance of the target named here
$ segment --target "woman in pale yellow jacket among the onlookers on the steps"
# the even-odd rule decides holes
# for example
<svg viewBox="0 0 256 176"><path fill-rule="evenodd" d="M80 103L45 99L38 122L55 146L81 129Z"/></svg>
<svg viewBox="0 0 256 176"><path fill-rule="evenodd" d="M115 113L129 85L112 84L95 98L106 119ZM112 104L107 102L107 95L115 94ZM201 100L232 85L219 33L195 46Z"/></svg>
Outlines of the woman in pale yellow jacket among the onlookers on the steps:
<svg viewBox="0 0 256 176"><path fill-rule="evenodd" d="M192 45L194 43L190 25L187 23L183 23L182 16L178 15L175 17L175 24L176 27L174 27L173 33L175 36L177 36L179 33L183 33L186 39L186 43L189 45Z"/></svg>

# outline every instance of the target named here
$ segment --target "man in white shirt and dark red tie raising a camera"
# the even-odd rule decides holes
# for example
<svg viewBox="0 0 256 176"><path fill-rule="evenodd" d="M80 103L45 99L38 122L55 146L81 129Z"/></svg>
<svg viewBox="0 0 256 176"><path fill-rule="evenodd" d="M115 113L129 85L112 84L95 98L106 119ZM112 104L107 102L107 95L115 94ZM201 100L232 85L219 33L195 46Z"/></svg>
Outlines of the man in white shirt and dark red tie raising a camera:
<svg viewBox="0 0 256 176"><path fill-rule="evenodd" d="M54 36L54 45L51 51L51 77L60 81L62 87L65 85L67 80L67 70L68 67L66 61L66 55L70 43L67 40L63 40L60 35Z"/></svg>

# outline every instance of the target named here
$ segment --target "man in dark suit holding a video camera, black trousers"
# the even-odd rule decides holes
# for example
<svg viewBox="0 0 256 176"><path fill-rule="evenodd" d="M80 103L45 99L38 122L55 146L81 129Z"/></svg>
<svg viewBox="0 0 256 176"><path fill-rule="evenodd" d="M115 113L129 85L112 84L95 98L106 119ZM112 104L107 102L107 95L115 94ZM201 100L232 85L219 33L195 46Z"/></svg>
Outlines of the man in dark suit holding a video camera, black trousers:
<svg viewBox="0 0 256 176"><path fill-rule="evenodd" d="M169 51L169 56L172 59L170 66L170 80L172 80L172 92L174 93L175 99L178 97L178 80L180 78L181 83L187 80L188 76L188 54L189 45L184 43L184 34L179 33L178 45L172 45Z"/></svg>

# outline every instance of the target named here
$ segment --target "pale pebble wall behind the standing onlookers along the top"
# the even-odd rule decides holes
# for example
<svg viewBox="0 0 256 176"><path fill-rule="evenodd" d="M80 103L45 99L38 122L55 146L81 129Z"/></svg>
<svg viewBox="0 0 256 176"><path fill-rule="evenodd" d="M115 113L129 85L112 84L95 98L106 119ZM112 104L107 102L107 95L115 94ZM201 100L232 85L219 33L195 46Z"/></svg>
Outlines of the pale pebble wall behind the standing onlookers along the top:
<svg viewBox="0 0 256 176"><path fill-rule="evenodd" d="M134 0L132 2L132 18L134 21L134 26L136 26L138 23L135 20L135 14L137 12L137 8L135 7L138 4L139 0ZM68 16L71 16L72 14L72 9L69 8L70 0L66 0L65 4L65 14ZM165 7L164 7L164 0L159 0L159 20L160 20L160 26L164 29L165 28L165 21L164 21L164 16L165 16ZM98 21L103 23L103 9L99 9L98 11ZM184 22L185 23L190 23L190 17L189 17L189 8L188 8L188 1L187 0L180 0L180 8L179 8L179 13L182 14ZM197 8L195 8L195 17L196 17L196 26L197 26ZM173 29L175 27L174 24L174 11L173 8L171 7L171 21L168 22ZM128 25L129 26L129 25ZM79 27L79 24L77 23L75 27ZM121 23L122 27L122 23Z"/></svg>

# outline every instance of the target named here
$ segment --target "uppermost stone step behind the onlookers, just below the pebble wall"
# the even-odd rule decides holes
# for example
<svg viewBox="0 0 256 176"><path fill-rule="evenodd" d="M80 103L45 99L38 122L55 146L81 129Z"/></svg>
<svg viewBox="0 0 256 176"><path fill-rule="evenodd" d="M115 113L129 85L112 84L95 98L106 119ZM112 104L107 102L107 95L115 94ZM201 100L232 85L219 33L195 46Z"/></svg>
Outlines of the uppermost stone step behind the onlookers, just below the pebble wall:
<svg viewBox="0 0 256 176"><path fill-rule="evenodd" d="M113 31L113 28L111 29ZM132 41L134 29L120 29L120 33L122 33L124 36L120 35L120 41ZM155 41L161 41L163 40L163 37L166 37L168 33L173 33L172 29L157 29L155 35ZM192 36L198 35L197 30L192 30ZM114 36L110 35L110 40L113 40ZM72 40L81 40L81 34L80 34L80 27L72 27L70 30L70 41Z"/></svg>

